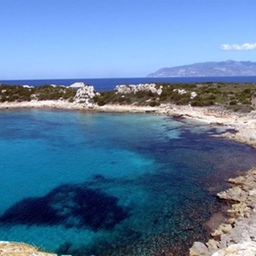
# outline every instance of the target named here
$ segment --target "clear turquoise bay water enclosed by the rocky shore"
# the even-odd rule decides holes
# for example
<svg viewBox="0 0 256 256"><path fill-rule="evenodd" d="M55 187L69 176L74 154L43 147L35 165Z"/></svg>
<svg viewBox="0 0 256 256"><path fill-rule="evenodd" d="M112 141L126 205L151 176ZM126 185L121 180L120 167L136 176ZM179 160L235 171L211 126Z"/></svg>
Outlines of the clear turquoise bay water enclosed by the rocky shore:
<svg viewBox="0 0 256 256"><path fill-rule="evenodd" d="M187 255L256 151L148 114L0 112L0 240L72 255Z"/></svg>

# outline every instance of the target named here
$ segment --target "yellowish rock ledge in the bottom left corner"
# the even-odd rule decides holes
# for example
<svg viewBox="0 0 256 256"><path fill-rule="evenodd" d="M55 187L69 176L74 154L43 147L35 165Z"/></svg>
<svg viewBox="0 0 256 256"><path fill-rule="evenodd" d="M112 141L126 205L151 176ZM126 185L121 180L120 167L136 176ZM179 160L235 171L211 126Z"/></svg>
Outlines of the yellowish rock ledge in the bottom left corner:
<svg viewBox="0 0 256 256"><path fill-rule="evenodd" d="M0 241L1 256L57 256L57 254L41 252L38 248L17 242Z"/></svg>

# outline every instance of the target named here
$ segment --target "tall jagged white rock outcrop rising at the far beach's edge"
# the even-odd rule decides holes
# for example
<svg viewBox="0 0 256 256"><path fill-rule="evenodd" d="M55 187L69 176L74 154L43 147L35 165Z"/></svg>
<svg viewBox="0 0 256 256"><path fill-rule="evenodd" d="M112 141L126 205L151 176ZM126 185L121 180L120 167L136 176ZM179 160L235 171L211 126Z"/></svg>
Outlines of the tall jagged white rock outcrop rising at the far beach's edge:
<svg viewBox="0 0 256 256"><path fill-rule="evenodd" d="M96 104L93 101L93 98L95 96L100 96L100 93L96 92L93 86L86 85L77 90L75 102L83 103L83 105L85 105L88 108L94 108L96 106Z"/></svg>

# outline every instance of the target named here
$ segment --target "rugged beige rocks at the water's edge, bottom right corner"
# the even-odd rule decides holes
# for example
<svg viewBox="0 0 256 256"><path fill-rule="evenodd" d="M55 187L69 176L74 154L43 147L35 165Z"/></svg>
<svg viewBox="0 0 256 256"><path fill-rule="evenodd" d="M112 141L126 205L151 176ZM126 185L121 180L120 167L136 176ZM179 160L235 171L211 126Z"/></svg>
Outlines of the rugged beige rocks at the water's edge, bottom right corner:
<svg viewBox="0 0 256 256"><path fill-rule="evenodd" d="M220 200L231 203L229 218L206 244L195 242L190 256L256 255L256 168L229 179L229 183L230 189L217 194Z"/></svg>

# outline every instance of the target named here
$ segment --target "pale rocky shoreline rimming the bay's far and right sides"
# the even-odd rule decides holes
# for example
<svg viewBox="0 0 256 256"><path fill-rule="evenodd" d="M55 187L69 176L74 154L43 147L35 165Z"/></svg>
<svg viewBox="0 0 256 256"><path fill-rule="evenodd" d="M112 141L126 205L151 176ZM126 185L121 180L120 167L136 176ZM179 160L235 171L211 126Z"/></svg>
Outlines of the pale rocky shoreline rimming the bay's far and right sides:
<svg viewBox="0 0 256 256"><path fill-rule="evenodd" d="M192 118L206 122L209 125L219 125L232 129L235 133L227 132L214 136L226 137L256 148L256 111L238 114L223 110L220 107L196 108L170 104L157 107L136 105L88 106L63 100L0 103L0 109L2 110L20 108L155 113ZM206 244L195 242L190 249L190 256L256 255L256 168L251 169L245 176L230 179L229 182L232 188L218 194L221 200L232 203L232 207L228 210L229 219L211 234L212 239Z"/></svg>

